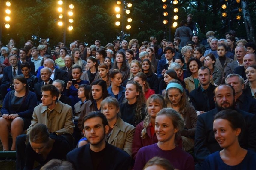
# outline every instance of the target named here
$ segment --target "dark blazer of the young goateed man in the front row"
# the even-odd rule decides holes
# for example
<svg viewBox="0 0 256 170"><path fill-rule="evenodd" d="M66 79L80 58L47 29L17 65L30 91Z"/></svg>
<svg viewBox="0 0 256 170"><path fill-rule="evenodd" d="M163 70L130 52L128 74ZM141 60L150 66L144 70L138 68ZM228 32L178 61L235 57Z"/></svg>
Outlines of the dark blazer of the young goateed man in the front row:
<svg viewBox="0 0 256 170"><path fill-rule="evenodd" d="M128 170L131 157L125 151L106 142L105 155L98 165L98 170ZM76 148L67 154L67 161L71 162L76 170L94 170L90 154L90 144Z"/></svg>

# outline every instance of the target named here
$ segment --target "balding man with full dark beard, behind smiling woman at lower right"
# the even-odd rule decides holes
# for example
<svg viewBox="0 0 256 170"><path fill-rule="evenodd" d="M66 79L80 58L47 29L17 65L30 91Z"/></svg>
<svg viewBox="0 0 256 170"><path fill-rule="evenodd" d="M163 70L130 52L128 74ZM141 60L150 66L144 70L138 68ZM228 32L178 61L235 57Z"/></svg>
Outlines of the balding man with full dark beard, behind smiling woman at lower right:
<svg viewBox="0 0 256 170"><path fill-rule="evenodd" d="M235 90L232 86L220 84L215 88L214 95L216 107L209 112L199 115L197 120L194 147L195 157L198 160L196 169L200 169L206 156L222 149L214 138L214 116L221 110L235 110ZM239 138L239 144L242 148L256 151L256 117L239 109L236 111L242 114L246 122L244 133Z"/></svg>

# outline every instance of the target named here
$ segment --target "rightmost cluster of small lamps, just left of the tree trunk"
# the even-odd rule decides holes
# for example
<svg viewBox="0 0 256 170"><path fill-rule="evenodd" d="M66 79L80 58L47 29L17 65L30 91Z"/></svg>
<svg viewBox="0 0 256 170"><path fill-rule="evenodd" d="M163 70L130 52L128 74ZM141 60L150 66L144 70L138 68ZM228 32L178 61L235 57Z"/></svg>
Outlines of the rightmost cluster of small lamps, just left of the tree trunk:
<svg viewBox="0 0 256 170"><path fill-rule="evenodd" d="M230 3L231 1L231 3ZM222 8L222 13L221 16L223 17L227 17L227 7L229 6L230 9L232 10L233 14L236 14L236 19L240 20L241 19L241 12L242 12L242 8L240 7L240 2L241 0L221 0L220 4L221 4L221 8Z"/></svg>

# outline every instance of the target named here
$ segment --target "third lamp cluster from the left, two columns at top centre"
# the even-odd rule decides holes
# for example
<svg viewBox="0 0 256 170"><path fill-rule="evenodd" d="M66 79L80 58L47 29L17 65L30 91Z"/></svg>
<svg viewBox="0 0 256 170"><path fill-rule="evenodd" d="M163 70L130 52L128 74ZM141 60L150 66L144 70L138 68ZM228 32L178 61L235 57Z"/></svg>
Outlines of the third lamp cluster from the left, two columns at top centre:
<svg viewBox="0 0 256 170"><path fill-rule="evenodd" d="M122 4L123 3L123 4ZM125 11L125 13L127 15L130 14L130 8L132 7L131 3L126 3L124 4L125 1L117 1L117 7L115 7L115 11L116 11L116 18L119 20L121 19L121 17L124 17L124 13L123 11ZM121 9L122 8L122 9ZM122 11L121 11L122 10ZM122 16L123 15L123 16ZM123 19L124 20L124 19ZM130 22L132 22L132 18L128 17L127 18L127 22L128 25L126 25L126 29L130 30L131 29L131 25L129 24ZM116 21L115 25L119 26L120 25L120 21Z"/></svg>

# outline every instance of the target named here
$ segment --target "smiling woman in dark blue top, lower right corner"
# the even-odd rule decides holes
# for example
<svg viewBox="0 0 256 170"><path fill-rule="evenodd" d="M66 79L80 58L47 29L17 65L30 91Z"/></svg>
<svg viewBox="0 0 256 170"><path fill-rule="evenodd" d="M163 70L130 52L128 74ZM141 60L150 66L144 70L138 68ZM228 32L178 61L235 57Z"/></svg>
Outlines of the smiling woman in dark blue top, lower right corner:
<svg viewBox="0 0 256 170"><path fill-rule="evenodd" d="M221 151L206 157L202 169L255 169L254 151L241 148L239 136L245 128L245 120L235 110L222 110L215 115L213 131Z"/></svg>

